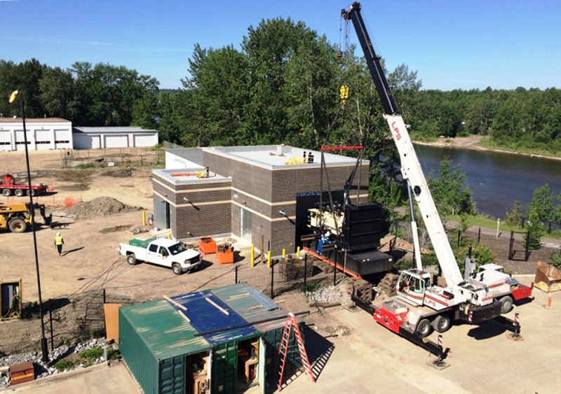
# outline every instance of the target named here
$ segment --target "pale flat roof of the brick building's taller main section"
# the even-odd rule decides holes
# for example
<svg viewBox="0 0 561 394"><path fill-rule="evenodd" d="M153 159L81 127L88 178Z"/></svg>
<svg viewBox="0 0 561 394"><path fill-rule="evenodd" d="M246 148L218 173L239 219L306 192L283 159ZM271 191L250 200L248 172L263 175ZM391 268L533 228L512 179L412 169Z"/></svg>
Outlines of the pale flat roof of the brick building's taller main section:
<svg viewBox="0 0 561 394"><path fill-rule="evenodd" d="M235 160L270 169L308 167L310 165L319 167L321 165L321 152L318 150L295 148L289 145L215 146L201 149L208 153L232 157ZM310 153L313 162L309 162ZM304 160L304 155L306 160ZM325 164L328 166L356 163L356 157L334 155L326 152L323 153L323 157L325 158ZM368 161L363 160L363 162Z"/></svg>

